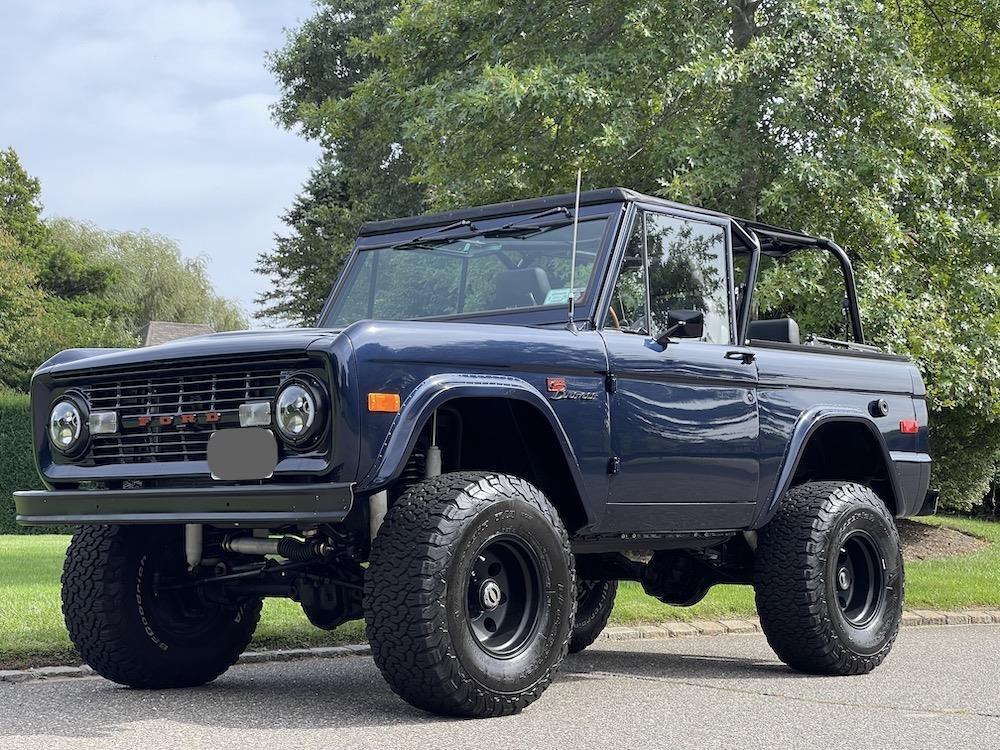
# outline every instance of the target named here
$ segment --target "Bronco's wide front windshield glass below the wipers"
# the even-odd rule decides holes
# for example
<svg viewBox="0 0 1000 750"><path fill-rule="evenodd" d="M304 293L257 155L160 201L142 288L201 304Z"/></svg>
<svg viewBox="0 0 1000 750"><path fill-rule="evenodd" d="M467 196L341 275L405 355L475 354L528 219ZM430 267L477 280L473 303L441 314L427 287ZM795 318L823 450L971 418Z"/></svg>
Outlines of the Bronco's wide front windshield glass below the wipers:
<svg viewBox="0 0 1000 750"><path fill-rule="evenodd" d="M572 280L577 303L588 294L607 223L606 217L579 223ZM493 232L496 236L466 233L455 239L432 232L393 247L360 250L323 324L566 306L572 222Z"/></svg>

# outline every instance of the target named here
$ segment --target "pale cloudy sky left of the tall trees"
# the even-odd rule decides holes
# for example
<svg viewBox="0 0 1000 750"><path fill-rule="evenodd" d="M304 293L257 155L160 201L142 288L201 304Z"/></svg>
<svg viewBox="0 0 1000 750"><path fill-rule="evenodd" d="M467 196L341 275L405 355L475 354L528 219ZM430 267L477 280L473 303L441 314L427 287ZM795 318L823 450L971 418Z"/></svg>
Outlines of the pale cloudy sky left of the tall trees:
<svg viewBox="0 0 1000 750"><path fill-rule="evenodd" d="M266 51L310 0L0 0L0 148L47 216L150 229L252 309L254 258L318 155L279 129Z"/></svg>

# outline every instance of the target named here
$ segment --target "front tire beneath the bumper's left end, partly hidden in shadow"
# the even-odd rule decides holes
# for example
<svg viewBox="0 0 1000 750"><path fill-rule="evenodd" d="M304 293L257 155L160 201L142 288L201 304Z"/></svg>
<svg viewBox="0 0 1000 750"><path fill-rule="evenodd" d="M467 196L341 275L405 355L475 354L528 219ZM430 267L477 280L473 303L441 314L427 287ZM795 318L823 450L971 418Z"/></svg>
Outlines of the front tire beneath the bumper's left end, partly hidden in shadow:
<svg viewBox="0 0 1000 750"><path fill-rule="evenodd" d="M62 592L66 627L83 660L136 688L203 685L229 669L253 636L261 602L215 605L195 589L166 590L185 577L178 527L79 529Z"/></svg>

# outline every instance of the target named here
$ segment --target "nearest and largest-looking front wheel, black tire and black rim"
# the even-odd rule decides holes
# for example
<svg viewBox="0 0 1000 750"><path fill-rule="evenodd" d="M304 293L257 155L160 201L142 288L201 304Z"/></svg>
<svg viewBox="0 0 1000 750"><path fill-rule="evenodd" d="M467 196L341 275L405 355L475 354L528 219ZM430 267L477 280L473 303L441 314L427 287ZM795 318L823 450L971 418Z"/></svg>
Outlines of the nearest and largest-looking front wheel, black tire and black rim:
<svg viewBox="0 0 1000 750"><path fill-rule="evenodd" d="M372 545L368 640L412 705L512 714L566 655L574 594L566 530L541 492L502 474L445 474L410 488Z"/></svg>

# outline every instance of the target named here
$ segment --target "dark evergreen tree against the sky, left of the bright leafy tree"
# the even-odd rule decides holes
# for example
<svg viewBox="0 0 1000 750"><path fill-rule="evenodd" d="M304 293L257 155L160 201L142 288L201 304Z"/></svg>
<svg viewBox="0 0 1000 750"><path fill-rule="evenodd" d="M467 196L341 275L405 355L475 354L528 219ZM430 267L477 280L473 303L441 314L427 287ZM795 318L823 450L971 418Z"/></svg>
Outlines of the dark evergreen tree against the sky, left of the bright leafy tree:
<svg viewBox="0 0 1000 750"><path fill-rule="evenodd" d="M391 122L372 111L356 128L334 134L317 114L378 74L381 62L358 43L384 31L398 3L326 0L317 6L270 64L282 88L275 119L319 141L323 155L284 216L288 233L257 263L273 285L258 298L256 317L298 325L316 322L363 221L423 208L423 190L410 180L411 160Z"/></svg>

